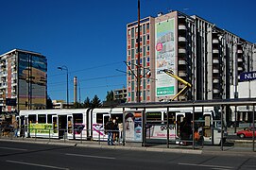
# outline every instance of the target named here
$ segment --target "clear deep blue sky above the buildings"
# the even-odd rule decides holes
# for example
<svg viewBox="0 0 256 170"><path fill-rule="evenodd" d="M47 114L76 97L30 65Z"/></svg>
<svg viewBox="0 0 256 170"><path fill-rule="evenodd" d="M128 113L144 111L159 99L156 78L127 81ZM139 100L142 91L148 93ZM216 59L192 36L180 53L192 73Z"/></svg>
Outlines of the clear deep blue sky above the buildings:
<svg viewBox="0 0 256 170"><path fill-rule="evenodd" d="M169 10L200 16L256 42L254 0L141 0L141 18ZM25 49L48 59L48 94L66 99L66 72L73 102L73 77L83 102L126 86L126 26L137 20L137 0L0 0L0 54Z"/></svg>

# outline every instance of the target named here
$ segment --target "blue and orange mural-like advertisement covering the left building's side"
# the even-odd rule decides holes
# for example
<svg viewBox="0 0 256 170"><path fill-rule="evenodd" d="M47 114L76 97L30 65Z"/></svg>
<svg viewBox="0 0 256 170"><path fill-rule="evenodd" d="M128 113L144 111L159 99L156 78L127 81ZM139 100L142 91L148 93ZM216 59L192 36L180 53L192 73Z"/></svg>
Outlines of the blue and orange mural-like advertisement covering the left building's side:
<svg viewBox="0 0 256 170"><path fill-rule="evenodd" d="M43 109L46 105L45 58L19 54L19 109Z"/></svg>

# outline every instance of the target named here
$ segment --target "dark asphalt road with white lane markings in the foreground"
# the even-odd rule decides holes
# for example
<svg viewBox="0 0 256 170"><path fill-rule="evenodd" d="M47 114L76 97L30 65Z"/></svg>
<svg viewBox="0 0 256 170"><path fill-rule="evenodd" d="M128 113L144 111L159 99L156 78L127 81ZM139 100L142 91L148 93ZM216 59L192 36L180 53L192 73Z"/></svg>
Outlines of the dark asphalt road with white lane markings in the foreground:
<svg viewBox="0 0 256 170"><path fill-rule="evenodd" d="M1 169L256 169L255 156L181 154L0 142Z"/></svg>

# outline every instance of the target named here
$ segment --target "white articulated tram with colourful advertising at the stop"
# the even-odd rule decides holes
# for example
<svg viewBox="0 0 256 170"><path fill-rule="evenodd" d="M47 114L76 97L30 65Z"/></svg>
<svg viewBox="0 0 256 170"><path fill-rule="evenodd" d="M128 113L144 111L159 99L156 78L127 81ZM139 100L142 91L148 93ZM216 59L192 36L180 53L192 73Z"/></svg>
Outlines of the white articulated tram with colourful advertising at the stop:
<svg viewBox="0 0 256 170"><path fill-rule="evenodd" d="M142 142L145 120L146 140L166 141L169 128L170 141L178 142L180 123L186 118L191 123L194 120L197 129L200 127L204 144L221 142L220 120L216 120L213 108L21 110L17 117L26 137L80 140L107 140L104 126L109 118L118 120L122 141ZM224 132L224 141L226 137Z"/></svg>

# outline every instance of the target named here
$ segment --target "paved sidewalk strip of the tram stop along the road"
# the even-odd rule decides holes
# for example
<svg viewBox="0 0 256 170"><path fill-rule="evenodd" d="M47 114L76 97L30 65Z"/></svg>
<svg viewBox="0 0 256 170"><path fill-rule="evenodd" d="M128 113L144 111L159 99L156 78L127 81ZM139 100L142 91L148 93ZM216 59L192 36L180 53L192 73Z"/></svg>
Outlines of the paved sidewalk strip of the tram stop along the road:
<svg viewBox="0 0 256 170"><path fill-rule="evenodd" d="M232 155L232 156L252 156L256 157L256 152L253 152L252 144L224 144L223 150L218 145L204 145L196 146L193 149L192 145L181 146L179 144L146 144L142 143L126 143L108 145L107 142L101 141L76 141L76 140L63 140L63 139L42 139L42 138L5 138L1 137L0 141L9 141L17 143L29 144L58 144L58 145L74 145L79 147L94 147L94 148L108 148L108 149L125 149L125 150L138 150L138 151L152 151L152 152L173 152L184 154L205 154L205 155Z"/></svg>

